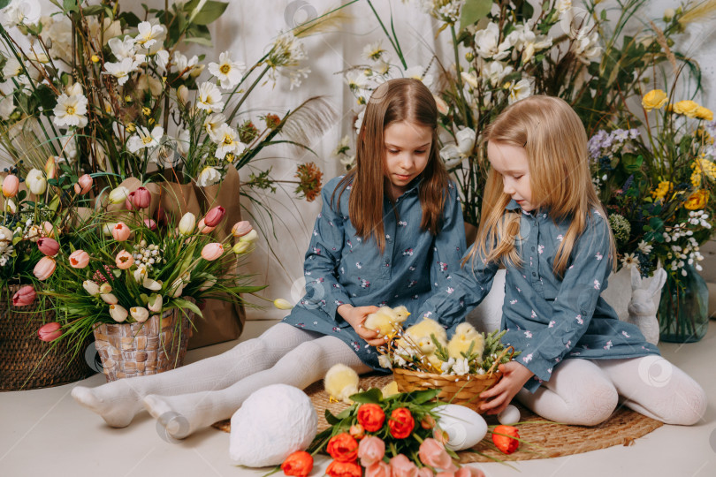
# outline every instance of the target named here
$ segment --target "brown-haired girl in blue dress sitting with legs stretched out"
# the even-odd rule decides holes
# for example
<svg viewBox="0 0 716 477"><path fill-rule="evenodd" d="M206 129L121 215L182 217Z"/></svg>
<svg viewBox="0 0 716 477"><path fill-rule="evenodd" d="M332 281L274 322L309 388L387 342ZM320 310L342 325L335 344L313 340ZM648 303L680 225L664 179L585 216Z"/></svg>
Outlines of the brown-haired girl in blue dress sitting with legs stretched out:
<svg viewBox="0 0 716 477"><path fill-rule="evenodd" d="M117 428L146 408L168 435L183 438L231 417L269 384L303 389L336 363L359 374L382 370L371 345L383 339L363 328L367 314L380 305L417 311L452 280L465 251L460 202L438 155L437 118L418 80L393 79L373 93L355 168L322 191L304 261L307 293L283 322L213 358L78 386L72 397Z"/></svg>

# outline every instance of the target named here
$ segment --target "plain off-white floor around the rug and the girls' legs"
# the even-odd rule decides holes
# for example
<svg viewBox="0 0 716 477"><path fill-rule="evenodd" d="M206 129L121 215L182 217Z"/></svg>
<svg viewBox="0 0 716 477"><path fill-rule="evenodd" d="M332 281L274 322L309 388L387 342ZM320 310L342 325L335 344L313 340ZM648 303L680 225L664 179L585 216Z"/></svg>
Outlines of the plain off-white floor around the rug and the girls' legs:
<svg viewBox="0 0 716 477"><path fill-rule="evenodd" d="M248 322L241 339L255 337L272 322ZM187 362L223 352L234 343L187 354ZM708 335L691 345L661 345L674 364L688 370L709 395L709 409L697 426L663 426L630 447L612 447L565 458L484 464L488 477L695 477L716 475L716 322ZM97 386L103 375L81 382ZM128 428L114 429L76 405L76 384L47 390L0 392L0 476L261 476L270 469L231 465L229 435L204 429L180 443L164 441L155 421L143 413ZM323 475L328 460L319 457L313 477ZM281 475L281 473L278 473Z"/></svg>

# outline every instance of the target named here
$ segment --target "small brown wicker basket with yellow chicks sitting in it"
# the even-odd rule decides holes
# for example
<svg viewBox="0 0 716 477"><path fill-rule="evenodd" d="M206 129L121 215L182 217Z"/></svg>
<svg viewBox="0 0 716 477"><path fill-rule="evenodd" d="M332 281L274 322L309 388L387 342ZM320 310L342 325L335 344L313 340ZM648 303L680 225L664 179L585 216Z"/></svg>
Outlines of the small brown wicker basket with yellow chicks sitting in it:
<svg viewBox="0 0 716 477"><path fill-rule="evenodd" d="M502 378L502 373L495 371L484 375L436 375L393 367L392 377L400 392L439 389L438 399L441 401L464 405L480 413L480 405L485 401L480 398L480 393L494 386Z"/></svg>

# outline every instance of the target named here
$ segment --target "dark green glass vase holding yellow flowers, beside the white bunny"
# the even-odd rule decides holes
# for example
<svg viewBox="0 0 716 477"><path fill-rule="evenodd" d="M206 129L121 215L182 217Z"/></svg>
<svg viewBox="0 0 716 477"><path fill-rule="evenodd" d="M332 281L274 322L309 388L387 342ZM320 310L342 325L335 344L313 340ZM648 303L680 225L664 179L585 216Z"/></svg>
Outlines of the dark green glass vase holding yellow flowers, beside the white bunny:
<svg viewBox="0 0 716 477"><path fill-rule="evenodd" d="M659 339L670 343L692 343L708 329L709 290L692 265L686 276L668 274L659 301Z"/></svg>

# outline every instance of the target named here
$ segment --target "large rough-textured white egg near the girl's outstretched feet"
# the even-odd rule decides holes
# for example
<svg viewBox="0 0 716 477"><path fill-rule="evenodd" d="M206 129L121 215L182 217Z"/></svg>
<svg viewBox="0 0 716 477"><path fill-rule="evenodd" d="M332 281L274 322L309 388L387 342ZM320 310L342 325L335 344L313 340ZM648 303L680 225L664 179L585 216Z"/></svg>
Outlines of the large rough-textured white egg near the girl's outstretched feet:
<svg viewBox="0 0 716 477"><path fill-rule="evenodd" d="M278 466L291 453L308 448L317 430L316 409L306 393L271 384L233 413L229 458L237 466Z"/></svg>

